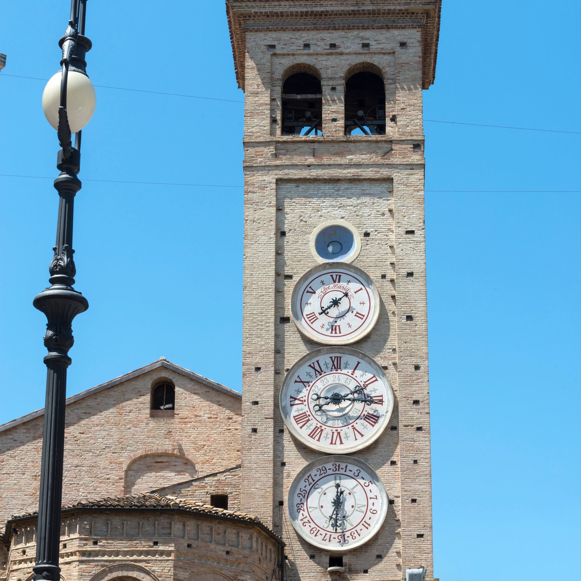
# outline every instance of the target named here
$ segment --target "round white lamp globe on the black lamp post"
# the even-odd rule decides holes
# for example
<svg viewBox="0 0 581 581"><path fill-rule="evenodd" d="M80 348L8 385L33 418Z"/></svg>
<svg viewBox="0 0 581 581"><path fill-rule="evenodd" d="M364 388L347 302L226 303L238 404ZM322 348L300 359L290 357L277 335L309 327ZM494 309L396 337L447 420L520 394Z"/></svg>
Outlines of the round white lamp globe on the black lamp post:
<svg viewBox="0 0 581 581"><path fill-rule="evenodd" d="M42 93L42 110L46 120L59 127L60 78L62 71L49 78ZM81 131L91 120L96 105L95 88L87 75L69 71L67 77L67 117L71 133Z"/></svg>

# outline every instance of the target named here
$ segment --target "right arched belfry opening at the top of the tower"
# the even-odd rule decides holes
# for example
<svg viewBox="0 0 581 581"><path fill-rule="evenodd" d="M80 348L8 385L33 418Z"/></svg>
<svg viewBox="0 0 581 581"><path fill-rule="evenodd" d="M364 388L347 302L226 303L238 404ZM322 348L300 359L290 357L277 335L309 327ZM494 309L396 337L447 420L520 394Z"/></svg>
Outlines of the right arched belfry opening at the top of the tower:
<svg viewBox="0 0 581 581"><path fill-rule="evenodd" d="M385 135L385 85L370 71L345 83L345 135Z"/></svg>

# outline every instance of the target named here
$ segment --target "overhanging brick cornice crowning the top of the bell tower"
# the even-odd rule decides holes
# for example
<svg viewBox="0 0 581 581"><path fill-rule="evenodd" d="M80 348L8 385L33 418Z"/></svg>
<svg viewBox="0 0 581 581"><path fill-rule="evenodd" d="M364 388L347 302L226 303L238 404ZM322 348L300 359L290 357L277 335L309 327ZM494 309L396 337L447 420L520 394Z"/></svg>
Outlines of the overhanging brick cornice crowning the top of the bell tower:
<svg viewBox="0 0 581 581"><path fill-rule="evenodd" d="M247 30L422 29L422 87L436 72L441 0L227 0L238 86L244 90ZM294 22L293 22L294 21Z"/></svg>

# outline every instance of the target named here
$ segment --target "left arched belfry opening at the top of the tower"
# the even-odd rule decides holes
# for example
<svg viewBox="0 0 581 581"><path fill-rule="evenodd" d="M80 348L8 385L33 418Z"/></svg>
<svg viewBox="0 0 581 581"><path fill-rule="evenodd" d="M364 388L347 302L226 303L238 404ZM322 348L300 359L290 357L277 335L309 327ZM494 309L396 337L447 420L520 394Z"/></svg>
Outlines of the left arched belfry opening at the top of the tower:
<svg viewBox="0 0 581 581"><path fill-rule="evenodd" d="M322 135L322 103L317 77L290 75L282 85L282 135Z"/></svg>

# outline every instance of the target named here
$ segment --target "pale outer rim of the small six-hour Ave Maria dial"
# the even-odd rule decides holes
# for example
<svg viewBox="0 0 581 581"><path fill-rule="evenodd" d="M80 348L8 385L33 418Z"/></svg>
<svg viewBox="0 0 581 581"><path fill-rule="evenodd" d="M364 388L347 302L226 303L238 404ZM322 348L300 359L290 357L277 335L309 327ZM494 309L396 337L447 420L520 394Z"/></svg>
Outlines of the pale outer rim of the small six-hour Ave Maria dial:
<svg viewBox="0 0 581 581"><path fill-rule="evenodd" d="M305 282L307 282L310 278L313 278L317 274L323 274L328 271L333 270L345 270L350 272L353 277L360 278L365 285L368 286L369 291L373 297L375 308L370 313L370 319L362 331L356 333L352 337L349 338L342 338L342 339L335 339L320 335L315 335L315 333L309 327L303 327L302 320L303 317L300 314L300 307L297 305L297 300L300 300L299 292L300 288L303 286ZM290 316L295 324L295 327L299 330L301 335L305 336L307 339L315 343L321 343L321 345L352 345L353 343L357 343L361 339L364 339L371 333L374 329L378 319L379 319L379 310L381 308L380 298L379 298L379 290L373 282L370 275L367 274L361 268L356 267L354 264L346 264L346 263L334 263L334 262L326 262L325 264L317 264L313 268L309 268L307 272L305 272L302 277L300 277L297 281L295 286L290 293Z"/></svg>

